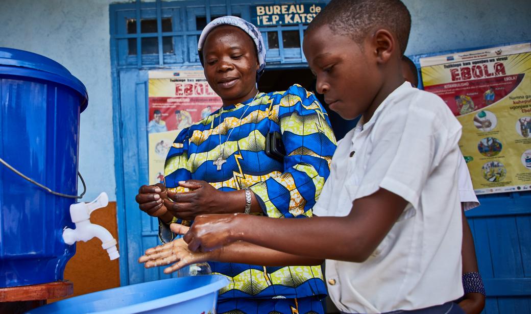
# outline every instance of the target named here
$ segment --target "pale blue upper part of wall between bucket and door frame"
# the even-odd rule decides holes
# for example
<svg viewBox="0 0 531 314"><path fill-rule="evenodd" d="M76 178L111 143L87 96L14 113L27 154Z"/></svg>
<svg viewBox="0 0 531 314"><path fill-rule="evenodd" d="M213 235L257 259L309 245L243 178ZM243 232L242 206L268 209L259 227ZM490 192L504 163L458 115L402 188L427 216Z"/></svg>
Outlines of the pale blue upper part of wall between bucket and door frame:
<svg viewBox="0 0 531 314"><path fill-rule="evenodd" d="M79 171L84 201L100 192L116 200L113 101L109 54L111 0L0 0L0 47L38 53L61 63L87 87L81 114ZM79 192L81 193L81 184Z"/></svg>

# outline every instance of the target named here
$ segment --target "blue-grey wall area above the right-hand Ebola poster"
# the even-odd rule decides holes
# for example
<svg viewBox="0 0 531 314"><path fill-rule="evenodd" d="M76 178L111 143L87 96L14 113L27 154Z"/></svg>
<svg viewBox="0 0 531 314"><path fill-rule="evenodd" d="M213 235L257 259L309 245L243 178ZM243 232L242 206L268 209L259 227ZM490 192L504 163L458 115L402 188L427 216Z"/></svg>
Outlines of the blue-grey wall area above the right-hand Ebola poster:
<svg viewBox="0 0 531 314"><path fill-rule="evenodd" d="M529 0L402 0L412 15L406 55L531 39Z"/></svg>

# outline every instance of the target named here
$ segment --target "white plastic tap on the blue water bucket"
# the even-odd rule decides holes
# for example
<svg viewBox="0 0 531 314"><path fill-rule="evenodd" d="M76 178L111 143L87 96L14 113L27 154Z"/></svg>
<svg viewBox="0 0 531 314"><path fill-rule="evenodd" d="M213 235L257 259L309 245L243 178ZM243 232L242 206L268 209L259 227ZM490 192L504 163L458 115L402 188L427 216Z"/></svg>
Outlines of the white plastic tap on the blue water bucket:
<svg viewBox="0 0 531 314"><path fill-rule="evenodd" d="M90 203L79 202L70 205L70 217L72 218L72 222L75 223L75 229L65 228L63 230L63 240L65 243L72 245L76 241L87 242L93 237L97 237L101 240L101 247L107 250L111 260L120 257L116 249L117 242L110 232L106 228L90 222L90 214L92 214L92 211L105 207L108 203L109 197L107 193L102 192Z"/></svg>

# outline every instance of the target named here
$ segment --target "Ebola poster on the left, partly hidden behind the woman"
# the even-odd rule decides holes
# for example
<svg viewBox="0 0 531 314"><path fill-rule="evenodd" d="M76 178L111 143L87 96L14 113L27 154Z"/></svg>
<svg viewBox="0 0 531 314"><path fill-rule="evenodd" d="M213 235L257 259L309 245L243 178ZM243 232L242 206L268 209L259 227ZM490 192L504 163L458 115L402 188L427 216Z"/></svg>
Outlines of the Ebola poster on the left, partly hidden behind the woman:
<svg viewBox="0 0 531 314"><path fill-rule="evenodd" d="M164 179L164 162L183 129L221 107L203 70L149 72L148 159L149 184Z"/></svg>

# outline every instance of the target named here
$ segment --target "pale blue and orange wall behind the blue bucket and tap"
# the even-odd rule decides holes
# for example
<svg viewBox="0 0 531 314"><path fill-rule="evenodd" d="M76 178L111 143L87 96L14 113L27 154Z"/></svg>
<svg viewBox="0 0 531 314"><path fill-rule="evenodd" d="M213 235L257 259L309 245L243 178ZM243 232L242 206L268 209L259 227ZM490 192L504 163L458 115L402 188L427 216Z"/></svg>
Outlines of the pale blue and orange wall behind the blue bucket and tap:
<svg viewBox="0 0 531 314"><path fill-rule="evenodd" d="M79 148L79 171L87 183L83 201L107 192L109 206L95 211L91 221L108 228L118 239L109 52L111 2L0 0L0 47L52 58L87 87L89 106L81 114ZM81 193L81 183L79 186ZM64 278L73 282L74 295L117 287L118 260L110 261L97 239L79 242L75 256L66 265ZM49 300L53 301L56 300Z"/></svg>

